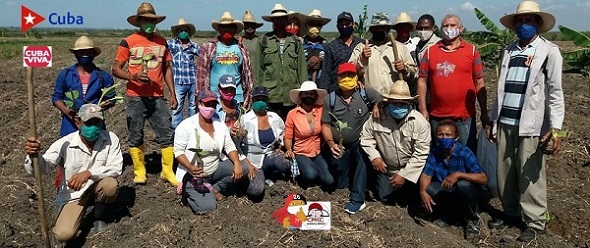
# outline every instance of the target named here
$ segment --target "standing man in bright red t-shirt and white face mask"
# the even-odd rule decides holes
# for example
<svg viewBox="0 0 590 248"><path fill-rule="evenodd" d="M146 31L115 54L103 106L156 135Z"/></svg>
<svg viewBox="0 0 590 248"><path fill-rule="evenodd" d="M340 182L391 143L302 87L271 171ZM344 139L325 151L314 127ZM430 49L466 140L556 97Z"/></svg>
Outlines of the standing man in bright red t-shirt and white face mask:
<svg viewBox="0 0 590 248"><path fill-rule="evenodd" d="M460 38L461 20L446 15L442 21L442 40L428 48L420 61L418 95L420 113L436 128L443 119L452 119L459 127L459 142L475 153L475 99L481 109L480 120L489 125L483 63L477 49ZM431 104L426 106L426 92ZM433 129L432 133L436 133Z"/></svg>

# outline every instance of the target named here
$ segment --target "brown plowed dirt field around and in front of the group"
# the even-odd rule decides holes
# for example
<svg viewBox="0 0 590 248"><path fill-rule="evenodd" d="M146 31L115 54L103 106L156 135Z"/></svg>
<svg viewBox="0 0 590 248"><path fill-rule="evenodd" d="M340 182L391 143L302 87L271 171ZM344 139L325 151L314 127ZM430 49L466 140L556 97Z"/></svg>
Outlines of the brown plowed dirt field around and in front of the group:
<svg viewBox="0 0 590 248"><path fill-rule="evenodd" d="M109 70L119 38L95 40L103 53L95 61ZM51 106L50 94L58 72L71 65L74 57L67 48L74 39L54 46L53 68L36 69L37 126L47 147L58 137L59 115ZM44 44L43 40L39 44ZM570 44L564 44L566 46ZM571 46L571 45L570 45ZM0 47L1 49L1 47ZM17 56L0 61L0 247L40 247L40 228L34 197L34 178L23 169L23 141L28 133L25 69ZM488 71L489 72L489 71ZM486 73L489 99L495 98L495 79ZM115 223L98 235L76 240L72 246L86 247L590 247L590 157L583 145L590 142L590 82L578 74L564 74L566 119L570 136L559 155L548 159L548 198L552 221L549 234L529 244L515 241L514 228L490 231L482 225L479 239L465 241L459 227L439 228L429 222L416 222L404 206L385 206L368 202L368 207L349 216L342 211L348 191L328 194L319 188L302 190L286 182L268 187L266 198L252 203L229 197L216 213L195 216L179 204L174 189L158 180L158 169L149 174L147 186L132 184L132 168L126 167L116 204ZM128 133L123 104L109 110L108 129L123 141L127 151ZM146 129L146 130L149 130ZM154 135L148 131L148 152L156 151ZM159 161L151 154L148 161ZM156 165L157 167L157 165ZM54 174L44 176L45 205L48 217L53 212ZM308 200L332 202L330 231L288 231L270 215L282 206L283 197L292 192ZM493 201L498 205L497 200ZM483 213L481 218L490 217ZM87 229L87 228L85 228Z"/></svg>

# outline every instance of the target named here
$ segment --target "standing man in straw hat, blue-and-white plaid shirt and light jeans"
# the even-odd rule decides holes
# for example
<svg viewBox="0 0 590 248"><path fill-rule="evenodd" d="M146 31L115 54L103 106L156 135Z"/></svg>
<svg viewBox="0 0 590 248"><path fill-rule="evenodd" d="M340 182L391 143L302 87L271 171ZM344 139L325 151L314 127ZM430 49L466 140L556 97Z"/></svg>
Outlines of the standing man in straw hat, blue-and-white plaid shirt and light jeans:
<svg viewBox="0 0 590 248"><path fill-rule="evenodd" d="M174 92L178 107L172 110L172 129L182 121L184 100L188 102L188 116L197 112L195 105L195 83L197 82L197 66L195 57L199 57L201 47L190 40L197 30L195 25L187 23L184 18L170 28L173 38L168 40L168 49L172 55Z"/></svg>

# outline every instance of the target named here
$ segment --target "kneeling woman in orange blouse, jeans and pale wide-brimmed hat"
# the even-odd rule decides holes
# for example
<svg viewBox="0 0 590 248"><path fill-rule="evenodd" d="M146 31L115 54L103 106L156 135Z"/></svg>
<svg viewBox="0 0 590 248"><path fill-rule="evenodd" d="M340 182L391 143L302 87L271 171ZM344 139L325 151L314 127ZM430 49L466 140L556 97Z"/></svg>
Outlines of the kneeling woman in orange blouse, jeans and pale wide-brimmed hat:
<svg viewBox="0 0 590 248"><path fill-rule="evenodd" d="M291 101L298 105L289 111L285 121L286 157L296 160L303 181L321 185L334 182L320 154L322 105L327 94L314 82L303 82L299 89L289 92Z"/></svg>

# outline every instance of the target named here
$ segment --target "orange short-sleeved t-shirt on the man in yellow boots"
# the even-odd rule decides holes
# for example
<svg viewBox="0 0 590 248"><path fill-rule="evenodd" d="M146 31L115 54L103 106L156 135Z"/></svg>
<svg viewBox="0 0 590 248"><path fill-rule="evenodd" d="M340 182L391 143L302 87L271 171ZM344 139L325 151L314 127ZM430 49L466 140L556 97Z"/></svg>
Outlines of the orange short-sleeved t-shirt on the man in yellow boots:
<svg viewBox="0 0 590 248"><path fill-rule="evenodd" d="M151 58L149 58L151 56ZM164 96L164 70L162 62L172 60L166 46L166 39L154 34L152 39L132 34L121 41L116 61L126 62L129 73L147 71L151 82L127 81L128 96ZM144 68L145 67L145 68Z"/></svg>

